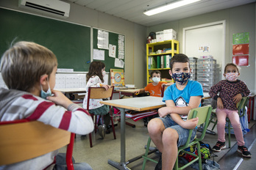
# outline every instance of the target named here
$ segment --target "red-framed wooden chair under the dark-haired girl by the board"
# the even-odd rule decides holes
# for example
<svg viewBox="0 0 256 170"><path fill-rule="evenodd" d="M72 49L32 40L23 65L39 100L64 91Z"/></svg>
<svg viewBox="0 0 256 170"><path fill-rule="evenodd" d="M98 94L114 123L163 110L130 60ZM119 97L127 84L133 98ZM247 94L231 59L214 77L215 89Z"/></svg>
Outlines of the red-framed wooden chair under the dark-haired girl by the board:
<svg viewBox="0 0 256 170"><path fill-rule="evenodd" d="M90 99L110 98L110 100L112 100L113 91L114 91L113 86L111 86L108 90L104 89L104 87L89 87L89 89L88 89L88 99L87 99L88 103L87 103L87 108L86 109L89 111ZM90 114L90 116L93 118L94 114ZM104 116L102 116L102 119L103 119L103 117ZM114 122L113 122L111 107L110 107L110 119L111 119L111 124L112 124L113 136L114 136L114 138L116 138L116 136L115 136L115 126L114 126ZM95 125L94 125L95 133L96 133L97 129L98 129L97 119L95 119ZM92 138L91 138L91 133L89 134L89 138L90 138L90 147L93 147L93 141L92 141Z"/></svg>

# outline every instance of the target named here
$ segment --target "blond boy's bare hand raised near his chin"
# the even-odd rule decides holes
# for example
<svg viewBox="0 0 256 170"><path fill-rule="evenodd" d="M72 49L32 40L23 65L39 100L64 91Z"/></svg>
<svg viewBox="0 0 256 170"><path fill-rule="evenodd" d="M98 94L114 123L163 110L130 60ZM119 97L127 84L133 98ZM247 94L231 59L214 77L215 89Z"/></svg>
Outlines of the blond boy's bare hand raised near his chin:
<svg viewBox="0 0 256 170"><path fill-rule="evenodd" d="M68 108L68 106L73 103L71 102L71 100L68 99L68 97L65 97L65 95L62 92L52 89L51 93L54 94L54 96L47 97L47 100L51 100L57 105L63 106L64 108Z"/></svg>

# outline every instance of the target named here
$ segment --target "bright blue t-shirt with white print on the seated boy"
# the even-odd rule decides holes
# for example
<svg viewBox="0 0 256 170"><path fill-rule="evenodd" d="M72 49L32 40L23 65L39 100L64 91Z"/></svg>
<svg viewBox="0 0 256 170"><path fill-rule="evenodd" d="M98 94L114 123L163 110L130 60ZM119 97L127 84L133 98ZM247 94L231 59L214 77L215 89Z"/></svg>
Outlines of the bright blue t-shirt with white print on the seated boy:
<svg viewBox="0 0 256 170"><path fill-rule="evenodd" d="M173 100L175 106L185 107L188 106L191 96L202 96L204 97L202 85L198 81L188 80L187 86L184 89L179 90L176 87L176 83L168 86L163 95L163 102L166 100ZM201 103L199 107L201 106ZM182 117L183 119L186 118Z"/></svg>

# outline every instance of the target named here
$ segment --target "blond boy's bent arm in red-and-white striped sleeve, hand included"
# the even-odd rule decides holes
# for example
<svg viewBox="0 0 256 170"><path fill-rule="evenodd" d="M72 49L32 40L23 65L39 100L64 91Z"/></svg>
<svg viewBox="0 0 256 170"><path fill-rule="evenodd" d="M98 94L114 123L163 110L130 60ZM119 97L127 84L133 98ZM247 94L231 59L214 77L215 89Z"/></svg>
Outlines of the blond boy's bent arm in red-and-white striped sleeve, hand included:
<svg viewBox="0 0 256 170"><path fill-rule="evenodd" d="M35 111L27 119L38 120L72 133L85 135L93 131L93 119L85 109L69 100L62 92L51 90L47 101L35 100ZM38 104L39 103L39 104ZM54 103L57 105L54 105Z"/></svg>

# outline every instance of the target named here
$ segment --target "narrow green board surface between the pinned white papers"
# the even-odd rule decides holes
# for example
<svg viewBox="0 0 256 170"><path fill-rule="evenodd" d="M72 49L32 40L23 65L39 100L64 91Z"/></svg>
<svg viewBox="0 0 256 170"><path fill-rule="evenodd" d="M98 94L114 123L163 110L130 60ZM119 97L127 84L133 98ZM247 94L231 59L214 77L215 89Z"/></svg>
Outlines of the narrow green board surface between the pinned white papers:
<svg viewBox="0 0 256 170"><path fill-rule="evenodd" d="M116 45L116 51L115 51L115 58L109 56L109 51L106 49L98 48L98 30L99 29L93 29L93 48L99 49L104 51L104 62L106 64L106 71L109 72L111 69L124 69L121 67L115 67L115 58L118 58L118 35L117 33L108 32L109 33L109 44ZM106 31L107 32L107 31ZM122 34L121 34L122 35ZM124 35L123 35L124 36ZM124 43L125 43L125 37L124 37ZM125 47L125 44L124 44ZM124 48L125 51L125 48ZM124 61L124 59L122 59ZM97 60L94 60L97 61Z"/></svg>

